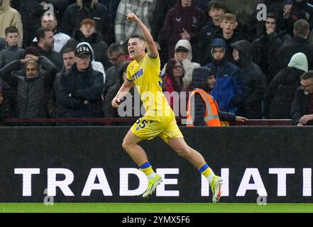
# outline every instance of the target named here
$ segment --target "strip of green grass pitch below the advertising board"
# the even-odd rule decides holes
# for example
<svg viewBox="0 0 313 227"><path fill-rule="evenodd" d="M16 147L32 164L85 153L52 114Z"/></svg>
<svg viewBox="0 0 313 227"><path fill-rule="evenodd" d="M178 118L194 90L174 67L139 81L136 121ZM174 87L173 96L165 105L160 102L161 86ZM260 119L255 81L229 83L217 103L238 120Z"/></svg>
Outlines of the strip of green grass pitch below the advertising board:
<svg viewBox="0 0 313 227"><path fill-rule="evenodd" d="M131 212L130 212L131 211ZM1 213L313 213L313 204L0 203Z"/></svg>

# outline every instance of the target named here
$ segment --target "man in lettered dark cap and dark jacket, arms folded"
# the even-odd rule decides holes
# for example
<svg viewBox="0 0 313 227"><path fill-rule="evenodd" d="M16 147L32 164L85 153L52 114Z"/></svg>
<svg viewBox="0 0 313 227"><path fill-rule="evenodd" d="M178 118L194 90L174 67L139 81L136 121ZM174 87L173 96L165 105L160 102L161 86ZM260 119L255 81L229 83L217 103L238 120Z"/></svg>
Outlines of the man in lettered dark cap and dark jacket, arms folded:
<svg viewBox="0 0 313 227"><path fill-rule="evenodd" d="M92 50L79 45L76 63L60 77L57 85L57 118L101 118L103 75L92 69Z"/></svg>

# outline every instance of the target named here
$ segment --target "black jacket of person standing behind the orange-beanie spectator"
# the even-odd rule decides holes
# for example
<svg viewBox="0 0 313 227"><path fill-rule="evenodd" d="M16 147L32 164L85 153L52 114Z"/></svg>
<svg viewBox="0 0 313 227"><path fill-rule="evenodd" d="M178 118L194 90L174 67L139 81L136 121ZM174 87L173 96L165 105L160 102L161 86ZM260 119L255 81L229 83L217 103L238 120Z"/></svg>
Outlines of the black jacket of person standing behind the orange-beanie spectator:
<svg viewBox="0 0 313 227"><path fill-rule="evenodd" d="M98 4L97 0L77 0L75 4L68 6L62 18L62 31L72 37L86 18L96 21L97 31L101 33L104 42L114 43L114 23L106 6Z"/></svg>

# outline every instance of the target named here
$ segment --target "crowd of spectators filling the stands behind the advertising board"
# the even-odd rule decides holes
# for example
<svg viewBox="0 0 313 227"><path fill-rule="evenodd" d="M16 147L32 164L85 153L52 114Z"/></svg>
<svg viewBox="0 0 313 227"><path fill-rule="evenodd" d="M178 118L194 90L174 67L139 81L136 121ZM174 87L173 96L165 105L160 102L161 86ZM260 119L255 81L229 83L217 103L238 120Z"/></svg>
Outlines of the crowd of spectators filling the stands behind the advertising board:
<svg viewBox="0 0 313 227"><path fill-rule="evenodd" d="M0 0L1 120L120 117L110 102L131 61L128 38L139 33L131 11L158 46L172 108L173 92L187 101L192 72L204 67L219 111L295 119L302 92L312 118L297 119L313 123L309 0Z"/></svg>

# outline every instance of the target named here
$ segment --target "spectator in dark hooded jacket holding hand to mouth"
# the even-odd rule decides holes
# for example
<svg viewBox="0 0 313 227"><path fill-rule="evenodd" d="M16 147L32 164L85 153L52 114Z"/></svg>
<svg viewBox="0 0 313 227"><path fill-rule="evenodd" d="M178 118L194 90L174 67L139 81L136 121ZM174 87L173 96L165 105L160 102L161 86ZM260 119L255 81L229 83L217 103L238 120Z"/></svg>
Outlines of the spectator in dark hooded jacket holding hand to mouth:
<svg viewBox="0 0 313 227"><path fill-rule="evenodd" d="M264 72L268 84L275 76L275 56L278 48L292 38L280 31L278 18L274 13L268 13L264 25L264 34L253 41L253 62L256 62Z"/></svg>

